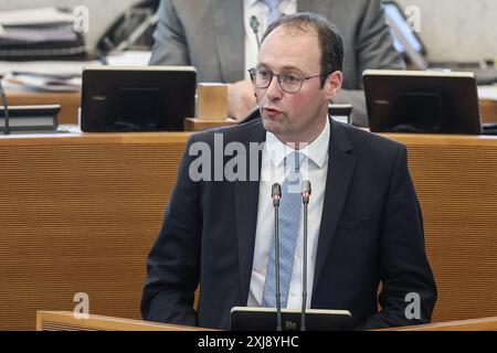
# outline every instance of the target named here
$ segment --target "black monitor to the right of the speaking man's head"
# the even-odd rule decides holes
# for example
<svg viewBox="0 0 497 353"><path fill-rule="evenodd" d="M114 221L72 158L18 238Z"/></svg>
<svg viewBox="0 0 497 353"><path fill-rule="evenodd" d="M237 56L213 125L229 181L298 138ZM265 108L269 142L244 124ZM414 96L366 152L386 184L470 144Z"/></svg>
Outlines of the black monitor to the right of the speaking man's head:
<svg viewBox="0 0 497 353"><path fill-rule="evenodd" d="M363 82L372 132L482 133L473 73L367 69Z"/></svg>

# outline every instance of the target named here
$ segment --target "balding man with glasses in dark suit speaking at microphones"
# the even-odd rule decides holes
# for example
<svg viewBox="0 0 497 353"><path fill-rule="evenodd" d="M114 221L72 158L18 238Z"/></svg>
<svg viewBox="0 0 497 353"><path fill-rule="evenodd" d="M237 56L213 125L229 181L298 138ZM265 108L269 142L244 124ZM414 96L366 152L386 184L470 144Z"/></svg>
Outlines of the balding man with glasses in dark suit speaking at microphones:
<svg viewBox="0 0 497 353"><path fill-rule="evenodd" d="M319 15L269 25L251 69L262 119L190 138L150 252L144 319L226 329L232 307L271 306L271 185L284 185L283 203L297 172L313 183L307 307L349 310L356 329L430 322L436 287L405 147L327 116L341 88L342 60L340 35ZM288 162L290 156L306 168ZM286 217L293 208L281 210L281 236L296 236L282 239L292 249L281 267L286 308L303 300L303 220L300 210Z"/></svg>

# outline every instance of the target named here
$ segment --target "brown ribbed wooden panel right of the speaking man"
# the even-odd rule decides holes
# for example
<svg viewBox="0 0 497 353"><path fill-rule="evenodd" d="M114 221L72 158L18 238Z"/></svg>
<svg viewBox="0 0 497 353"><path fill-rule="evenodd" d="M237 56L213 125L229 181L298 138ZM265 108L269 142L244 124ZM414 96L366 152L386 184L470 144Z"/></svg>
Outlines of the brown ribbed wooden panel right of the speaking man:
<svg viewBox="0 0 497 353"><path fill-rule="evenodd" d="M393 137L408 145L423 210L433 320L497 315L497 139Z"/></svg>

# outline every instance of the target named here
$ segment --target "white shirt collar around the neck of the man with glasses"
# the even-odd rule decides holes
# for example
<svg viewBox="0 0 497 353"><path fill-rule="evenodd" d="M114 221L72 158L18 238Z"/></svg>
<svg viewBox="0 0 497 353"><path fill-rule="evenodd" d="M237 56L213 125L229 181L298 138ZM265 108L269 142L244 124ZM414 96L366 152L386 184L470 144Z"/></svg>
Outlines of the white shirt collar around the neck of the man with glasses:
<svg viewBox="0 0 497 353"><path fill-rule="evenodd" d="M330 130L329 118L327 117L321 133L319 133L313 142L298 151L313 161L318 168L322 168L326 158L328 157ZM285 158L295 151L295 149L279 141L278 138L269 131L266 131L266 149L269 153L271 162L275 167L283 163Z"/></svg>

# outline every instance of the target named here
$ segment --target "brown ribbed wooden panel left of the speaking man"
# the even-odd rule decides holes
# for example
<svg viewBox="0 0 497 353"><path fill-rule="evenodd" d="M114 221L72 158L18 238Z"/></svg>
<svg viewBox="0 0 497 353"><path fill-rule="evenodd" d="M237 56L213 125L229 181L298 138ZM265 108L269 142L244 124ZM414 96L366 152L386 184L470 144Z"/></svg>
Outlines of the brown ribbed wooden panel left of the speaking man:
<svg viewBox="0 0 497 353"><path fill-rule="evenodd" d="M163 137L1 140L0 330L34 330L36 310L72 311L77 292L91 313L140 319L183 148Z"/></svg>

